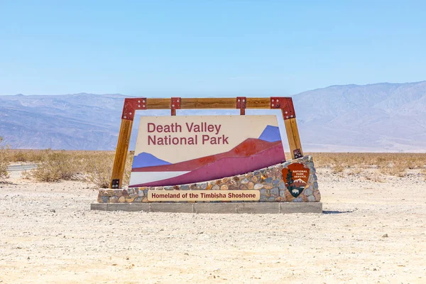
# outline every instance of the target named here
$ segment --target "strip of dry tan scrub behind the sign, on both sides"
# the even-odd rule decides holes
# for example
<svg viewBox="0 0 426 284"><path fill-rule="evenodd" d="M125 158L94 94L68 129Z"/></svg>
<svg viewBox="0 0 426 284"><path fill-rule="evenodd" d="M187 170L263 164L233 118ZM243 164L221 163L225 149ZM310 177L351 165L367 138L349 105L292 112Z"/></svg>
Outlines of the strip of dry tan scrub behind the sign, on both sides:
<svg viewBox="0 0 426 284"><path fill-rule="evenodd" d="M5 148L6 149L6 148ZM96 187L109 187L114 151L34 151L4 150L6 163L37 163L28 172L40 181L85 180ZM310 153L317 168L330 168L339 175L361 175L367 180L382 181L383 175L402 177L407 170L422 170L426 178L426 153ZM133 152L128 155L123 184L128 185ZM5 162L3 162L5 163ZM7 174L6 170L4 172ZM1 153L0 153L1 173ZM0 175L1 177L1 175Z"/></svg>

